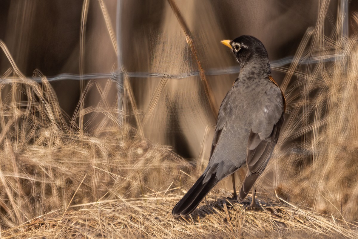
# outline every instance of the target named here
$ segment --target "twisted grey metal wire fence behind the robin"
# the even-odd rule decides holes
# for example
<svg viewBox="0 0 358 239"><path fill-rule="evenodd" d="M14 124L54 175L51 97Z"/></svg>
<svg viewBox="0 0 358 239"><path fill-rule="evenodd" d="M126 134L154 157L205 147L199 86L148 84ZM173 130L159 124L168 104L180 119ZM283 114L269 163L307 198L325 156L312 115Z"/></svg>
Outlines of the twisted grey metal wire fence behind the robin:
<svg viewBox="0 0 358 239"><path fill-rule="evenodd" d="M102 8L105 8L105 6L103 5L102 0L99 0L102 5ZM168 0L173 2L173 0ZM86 3L88 4L87 0L83 1L83 5L85 6ZM340 0L339 1L339 17L337 19L338 23L337 23L337 27L340 27L341 29L341 35L342 37L347 37L348 36L348 0ZM106 18L106 10L103 10L103 15ZM178 9L176 10L178 11ZM124 80L130 79L130 78L158 78L163 79L163 78L168 78L168 79L175 79L175 80L181 80L187 77L192 77L192 76L199 76L200 78L202 77L201 73L204 73L204 75L206 76L220 76L220 75L231 75L231 74L238 74L240 72L240 66L232 66L232 67L226 67L226 68L211 68L211 69L206 69L203 70L202 68L198 67L197 71L190 71L190 72L183 72L180 74L171 74L168 72L127 72L125 71L125 67L123 64L123 56L122 56L122 32L121 32L121 13L122 13L122 1L121 0L117 0L117 9L116 9L116 34L113 33L113 30L111 29L111 26L107 26L108 32L110 32L111 38L112 38L112 43L115 45L115 49L116 49L116 53L117 53L117 70L113 71L113 72L102 72L102 73L89 73L89 74L72 74L72 73L60 73L58 75L54 75L54 76L47 76L46 80L49 82L54 82L54 81L61 81L61 80L75 80L75 81L86 81L86 80L111 80L113 82L116 82L117 85L117 112L118 114L118 122L120 124L122 124L122 120L123 120L123 116L125 115L124 110ZM177 14L180 14L177 13ZM181 21L184 21L184 19L180 19ZM182 22L182 24L185 24ZM187 31L189 29L186 29ZM113 37L113 36L116 37ZM188 37L188 36L187 36ZM190 34L189 34L190 37ZM116 39L113 39L116 38ZM188 42L188 41L187 41ZM193 43L192 43L193 44ZM6 54L6 56L8 57L11 65L13 66L13 70L14 72L22 79L27 79L28 81L31 82L42 82L44 78L42 77L26 77L24 76L20 70L17 68L16 63L14 62L13 58L11 57L8 49L6 48L6 46L3 44L3 42L0 40L0 45L1 48L3 49L4 53ZM191 46L194 47L194 46ZM314 64L314 63L319 63L319 62L331 62L331 61L336 61L340 58L344 57L344 54L334 54L334 55L329 55L329 56L324 56L323 57L316 57L316 58L300 58L298 57L295 58L293 56L289 56L289 57L285 57L285 58L281 58L278 59L276 61L272 61L271 63L271 68L272 70L276 70L276 71L285 71L285 72L293 72L293 68L294 66L297 66L299 64ZM294 64L292 64L294 63ZM287 67L288 65L293 65L291 67ZM202 72L200 72L200 69L202 70ZM81 71L80 71L81 72ZM0 83L1 84L11 84L13 83L13 78L14 77L0 77ZM201 79L203 80L203 79ZM285 79L284 79L285 81ZM287 83L288 81L286 81ZM281 85L281 88L286 89L287 84L286 85ZM131 94L133 94L131 92ZM208 95L208 94L207 94ZM207 96L208 97L208 96ZM133 97L132 97L133 98ZM208 97L209 98L209 97ZM209 102L210 103L210 102ZM135 102L131 102L132 106L133 104L135 104ZM133 106L134 111L138 112L138 110L136 109L136 106ZM214 115L217 113L217 109L215 109L214 111ZM139 132L141 132L142 134L142 130L141 130L141 125L145 123L145 120L147 120L147 118L140 120L138 118L137 114L134 114L136 122L137 122L137 126L139 128ZM144 123L143 123L143 122ZM206 133L205 133L206 134ZM206 136L205 136L206 137ZM204 137L204 138L205 138ZM200 153L202 154L202 153ZM202 158L201 156L199 156L199 158Z"/></svg>

